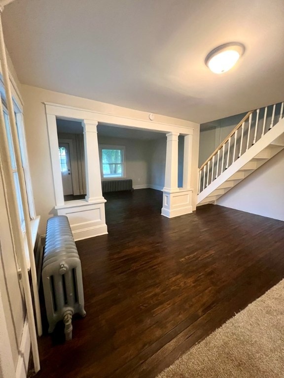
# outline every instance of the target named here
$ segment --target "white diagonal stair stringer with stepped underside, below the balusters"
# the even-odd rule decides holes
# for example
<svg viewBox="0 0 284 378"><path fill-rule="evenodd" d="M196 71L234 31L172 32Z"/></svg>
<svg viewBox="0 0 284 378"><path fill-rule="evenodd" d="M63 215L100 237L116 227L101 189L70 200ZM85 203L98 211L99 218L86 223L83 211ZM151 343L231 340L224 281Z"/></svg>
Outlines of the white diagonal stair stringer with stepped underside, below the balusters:
<svg viewBox="0 0 284 378"><path fill-rule="evenodd" d="M280 140L277 140L280 139ZM276 142L275 142L276 141ZM275 142L275 144L273 144ZM264 149L270 148L269 158L255 158ZM202 190L197 196L197 204L202 205L212 203L228 190L234 188L239 182L249 176L250 173L259 168L266 161L278 154L284 149L284 118L273 126L266 134L264 134L248 151L246 151L240 158L234 161L227 169L223 171L207 188ZM265 154L266 155L266 154ZM247 167L246 167L247 165ZM249 168L249 169L247 169ZM238 172L237 180L233 175ZM214 191L219 189L226 181L234 180L234 185L223 189L221 194L214 195Z"/></svg>

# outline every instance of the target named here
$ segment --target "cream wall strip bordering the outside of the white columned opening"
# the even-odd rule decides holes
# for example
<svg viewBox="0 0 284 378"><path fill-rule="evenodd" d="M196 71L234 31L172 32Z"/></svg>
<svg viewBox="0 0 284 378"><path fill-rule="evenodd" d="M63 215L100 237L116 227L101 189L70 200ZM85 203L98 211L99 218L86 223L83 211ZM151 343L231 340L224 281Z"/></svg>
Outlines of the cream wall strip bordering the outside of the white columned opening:
<svg viewBox="0 0 284 378"><path fill-rule="evenodd" d="M103 113L111 113L122 117L147 121L149 113L122 108L119 106L93 101L81 97L47 91L27 85L22 86L22 95L24 98L25 127L34 196L36 202L36 212L41 216L39 233L44 234L46 221L54 212L55 196L43 102L53 102L62 105L69 105L78 108L84 108ZM194 128L195 132L193 138L192 186L195 189L196 194L199 125L192 122L161 115L156 115L155 122ZM193 206L195 209L196 195L194 195L193 197Z"/></svg>

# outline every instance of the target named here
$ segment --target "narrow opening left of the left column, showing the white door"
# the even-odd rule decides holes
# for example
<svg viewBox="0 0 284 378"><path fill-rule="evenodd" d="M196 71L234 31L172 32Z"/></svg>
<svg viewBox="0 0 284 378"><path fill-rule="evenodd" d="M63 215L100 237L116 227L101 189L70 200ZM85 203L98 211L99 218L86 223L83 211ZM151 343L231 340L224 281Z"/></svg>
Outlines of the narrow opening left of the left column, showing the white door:
<svg viewBox="0 0 284 378"><path fill-rule="evenodd" d="M82 123L56 119L64 201L86 196L85 151Z"/></svg>

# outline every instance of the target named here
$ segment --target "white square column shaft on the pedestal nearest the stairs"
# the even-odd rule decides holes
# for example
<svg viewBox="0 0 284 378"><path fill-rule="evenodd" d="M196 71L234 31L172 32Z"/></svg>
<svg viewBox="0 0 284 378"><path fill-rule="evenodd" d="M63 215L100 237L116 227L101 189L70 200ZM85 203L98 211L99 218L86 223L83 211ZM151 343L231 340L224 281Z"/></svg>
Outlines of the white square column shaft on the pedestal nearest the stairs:
<svg viewBox="0 0 284 378"><path fill-rule="evenodd" d="M167 192L178 189L178 135L178 132L167 134L165 187L163 189Z"/></svg>

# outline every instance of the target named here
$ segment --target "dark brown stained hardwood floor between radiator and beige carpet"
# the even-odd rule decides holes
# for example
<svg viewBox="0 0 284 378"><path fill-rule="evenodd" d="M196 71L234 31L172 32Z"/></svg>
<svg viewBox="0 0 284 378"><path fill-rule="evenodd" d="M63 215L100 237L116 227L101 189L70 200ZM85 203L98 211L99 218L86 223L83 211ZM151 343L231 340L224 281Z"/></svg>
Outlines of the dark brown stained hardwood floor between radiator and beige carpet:
<svg viewBox="0 0 284 378"><path fill-rule="evenodd" d="M39 339L38 378L154 378L284 276L283 221L214 205L167 219L152 189L105 197L108 235L76 243L87 316L70 342Z"/></svg>

